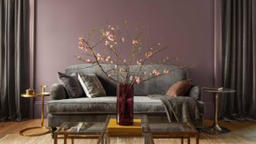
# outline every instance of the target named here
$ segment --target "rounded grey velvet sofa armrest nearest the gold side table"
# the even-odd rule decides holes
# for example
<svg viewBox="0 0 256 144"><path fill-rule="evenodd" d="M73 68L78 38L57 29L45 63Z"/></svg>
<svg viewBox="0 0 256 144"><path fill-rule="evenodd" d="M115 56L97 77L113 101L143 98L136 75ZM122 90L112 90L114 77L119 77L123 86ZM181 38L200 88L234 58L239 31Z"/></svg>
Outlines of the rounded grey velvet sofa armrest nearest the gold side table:
<svg viewBox="0 0 256 144"><path fill-rule="evenodd" d="M51 100L68 98L64 86L62 86L60 83L54 83L50 87L50 98Z"/></svg>

